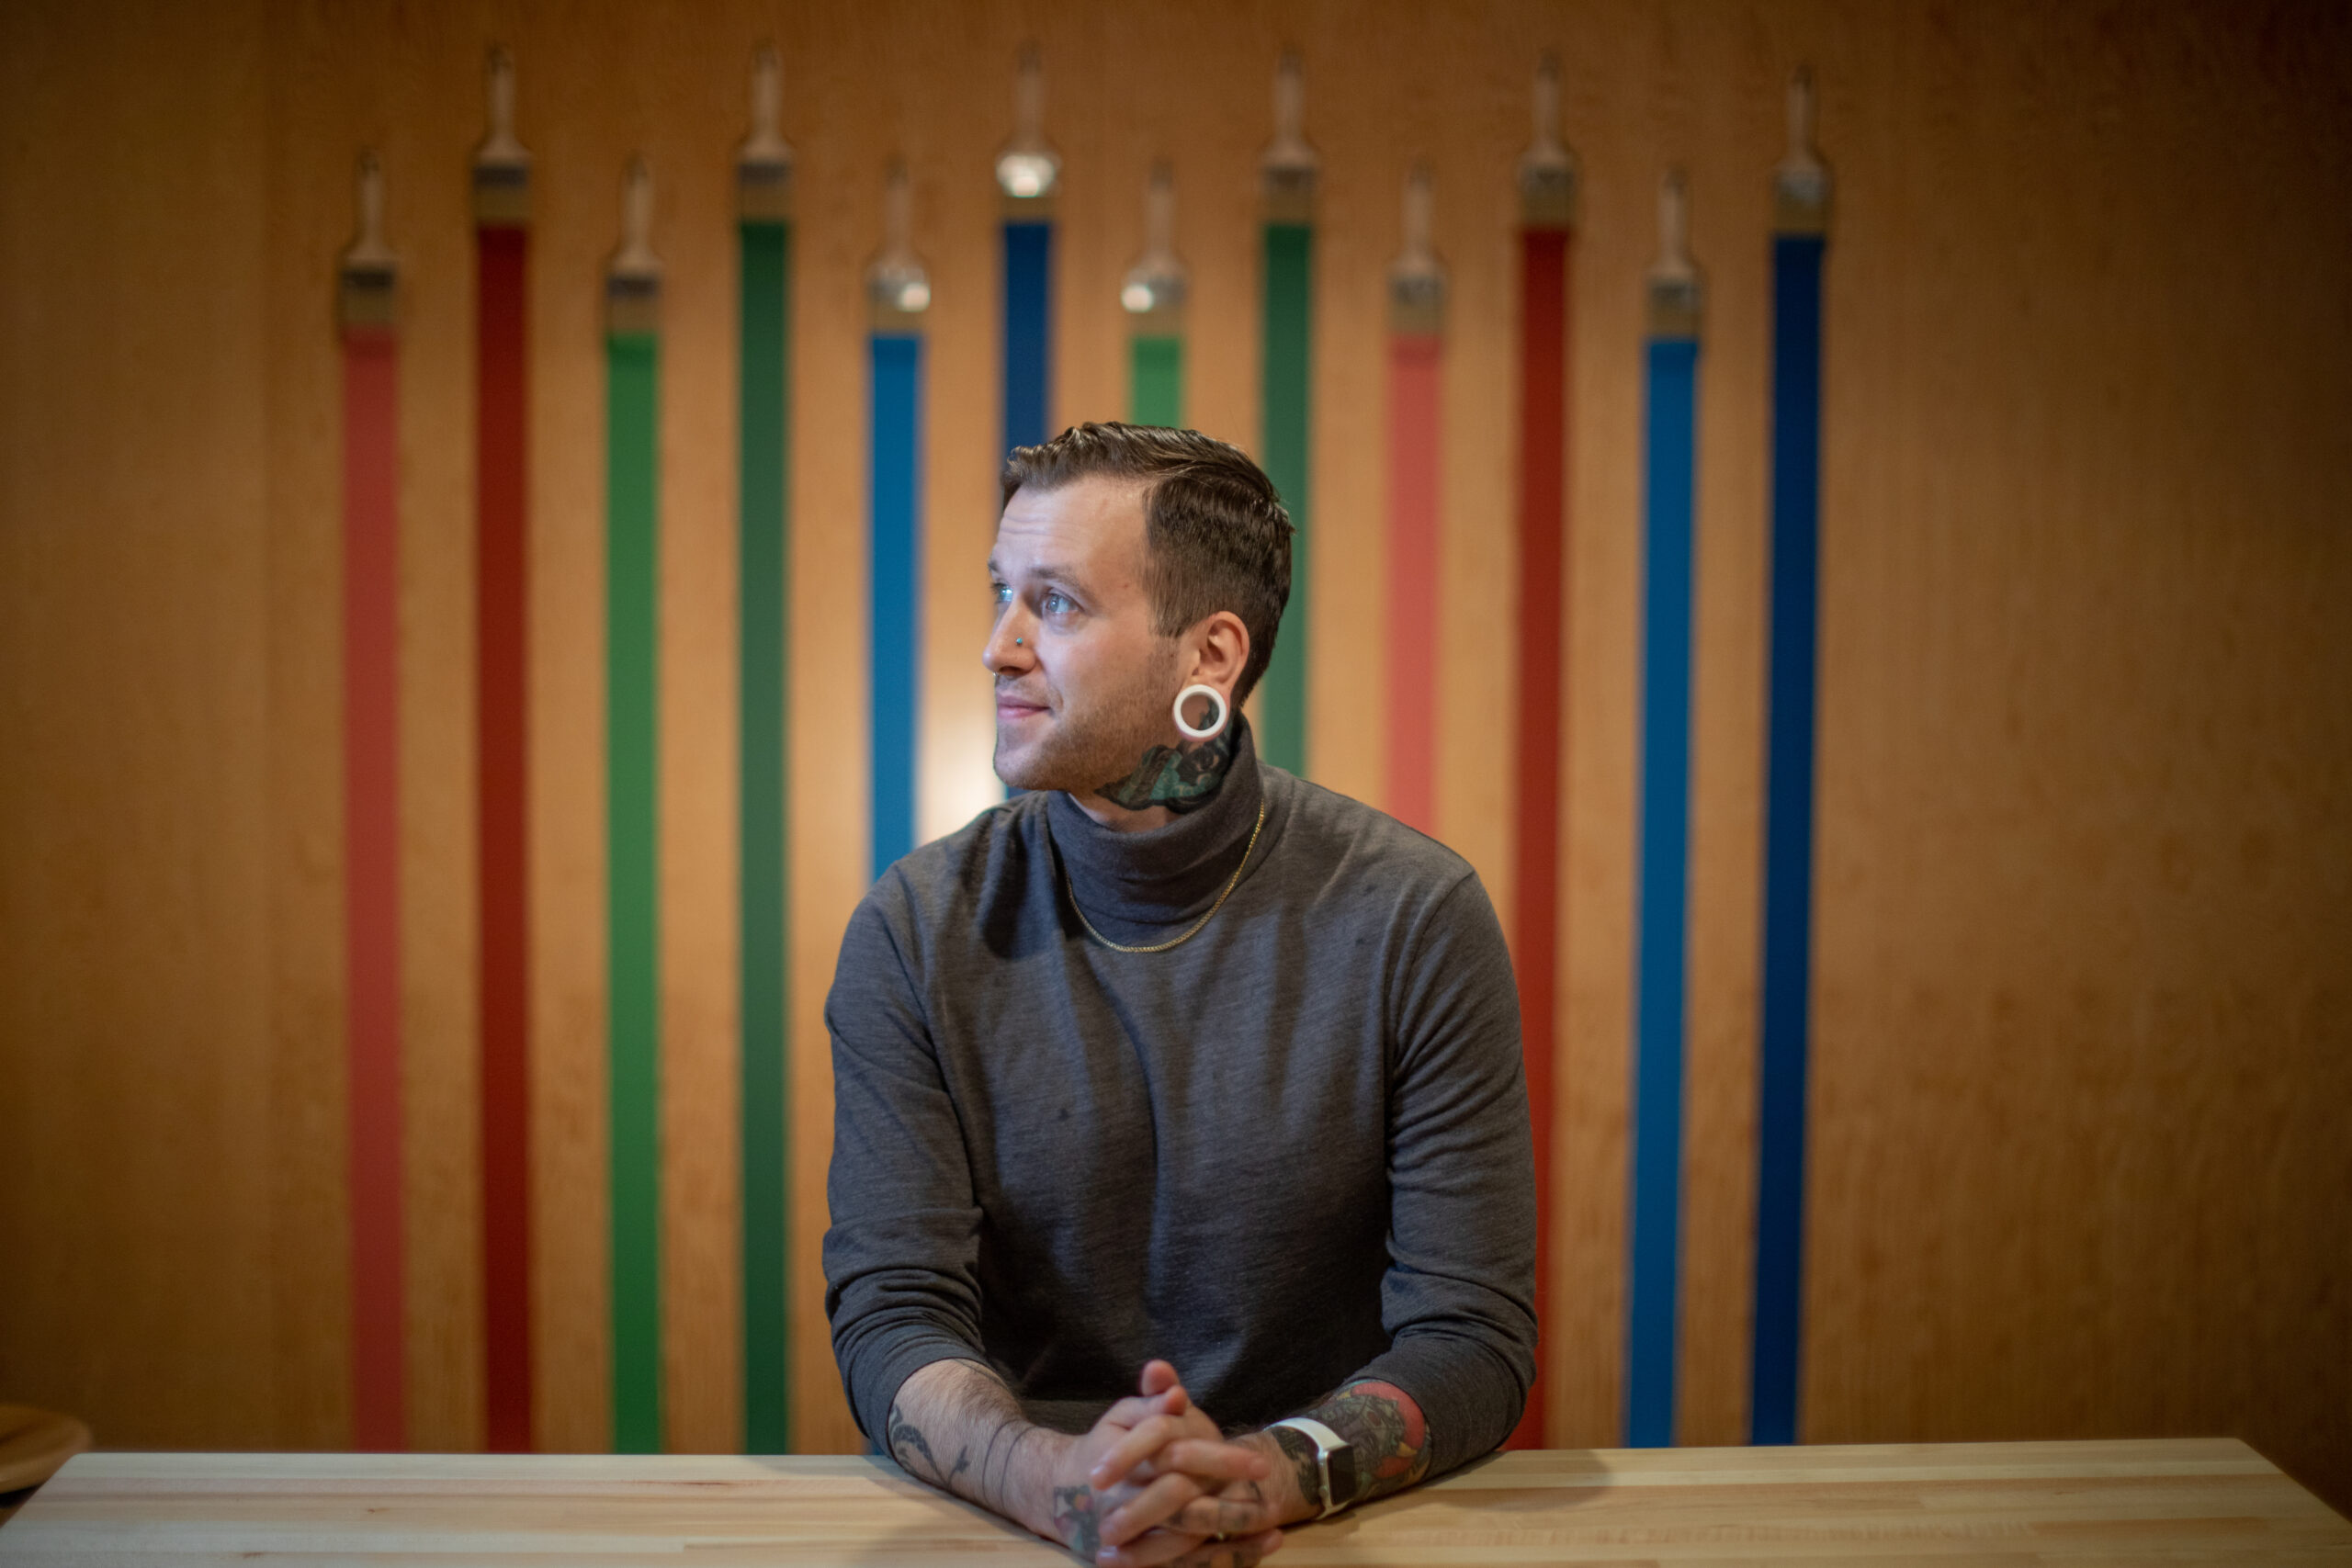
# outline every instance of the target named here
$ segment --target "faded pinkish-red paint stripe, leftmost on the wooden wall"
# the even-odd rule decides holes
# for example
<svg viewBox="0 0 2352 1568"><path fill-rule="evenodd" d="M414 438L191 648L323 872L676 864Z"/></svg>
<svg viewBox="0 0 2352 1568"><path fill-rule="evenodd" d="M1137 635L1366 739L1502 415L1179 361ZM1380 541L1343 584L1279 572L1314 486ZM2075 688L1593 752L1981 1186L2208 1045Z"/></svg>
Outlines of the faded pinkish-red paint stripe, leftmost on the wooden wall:
<svg viewBox="0 0 2352 1568"><path fill-rule="evenodd" d="M400 1232L400 348L343 334L350 1441L407 1448Z"/></svg>

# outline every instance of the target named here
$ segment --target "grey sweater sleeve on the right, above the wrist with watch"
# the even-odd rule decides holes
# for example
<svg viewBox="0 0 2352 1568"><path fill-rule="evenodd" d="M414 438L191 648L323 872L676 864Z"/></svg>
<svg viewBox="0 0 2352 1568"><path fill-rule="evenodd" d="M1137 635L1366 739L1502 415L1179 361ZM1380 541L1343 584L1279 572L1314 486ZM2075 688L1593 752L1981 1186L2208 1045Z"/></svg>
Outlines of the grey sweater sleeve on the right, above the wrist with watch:
<svg viewBox="0 0 2352 1568"><path fill-rule="evenodd" d="M1430 907L1392 980L1390 1225L1381 1324L1357 1378L1430 1427L1430 1476L1501 1446L1536 1380L1536 1154L1519 997L1477 877Z"/></svg>

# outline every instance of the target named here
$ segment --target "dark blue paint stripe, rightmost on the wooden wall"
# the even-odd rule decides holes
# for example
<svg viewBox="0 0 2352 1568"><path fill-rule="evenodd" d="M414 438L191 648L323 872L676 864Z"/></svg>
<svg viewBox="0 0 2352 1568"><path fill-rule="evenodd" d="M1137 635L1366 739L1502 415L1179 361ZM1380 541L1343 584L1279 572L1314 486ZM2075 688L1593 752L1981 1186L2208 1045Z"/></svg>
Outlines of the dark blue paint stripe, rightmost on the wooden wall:
<svg viewBox="0 0 2352 1568"><path fill-rule="evenodd" d="M1797 1441L1804 1079L1813 971L1813 696L1820 557L1820 235L1771 244L1771 672L1764 731L1764 1020L1750 1441Z"/></svg>

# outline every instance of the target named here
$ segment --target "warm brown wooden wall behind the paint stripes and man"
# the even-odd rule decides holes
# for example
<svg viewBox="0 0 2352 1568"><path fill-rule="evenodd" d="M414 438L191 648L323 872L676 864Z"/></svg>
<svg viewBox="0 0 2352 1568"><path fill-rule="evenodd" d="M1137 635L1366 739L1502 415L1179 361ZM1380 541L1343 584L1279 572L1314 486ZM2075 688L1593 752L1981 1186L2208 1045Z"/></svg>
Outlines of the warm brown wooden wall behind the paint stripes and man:
<svg viewBox="0 0 2352 1568"><path fill-rule="evenodd" d="M0 1396L118 1446L334 1446L343 1389L332 259L383 153L405 261L409 1399L480 1443L470 235L520 63L532 261L539 1429L607 1441L602 371L649 153L663 362L668 1439L739 1432L734 235L753 42L800 148L795 1387L821 1326L818 1018L863 891L863 317L880 176L931 263L924 830L988 797L995 193L1011 59L1068 158L1056 418L1124 404L1115 280L1176 160L1192 418L1256 433L1277 49L1308 59L1312 771L1381 799L1378 646L1442 670L1439 813L1508 907L1512 193L1534 56L1576 256L1552 1434L1618 1434L1639 277L1689 167L1700 407L1682 1436L1745 1434L1766 172L1823 82L1820 882L1804 1432L2234 1432L2352 1502L2352 38L2173 5L346 7L0 12ZM1411 158L1454 268L1444 623L1381 625L1381 268Z"/></svg>

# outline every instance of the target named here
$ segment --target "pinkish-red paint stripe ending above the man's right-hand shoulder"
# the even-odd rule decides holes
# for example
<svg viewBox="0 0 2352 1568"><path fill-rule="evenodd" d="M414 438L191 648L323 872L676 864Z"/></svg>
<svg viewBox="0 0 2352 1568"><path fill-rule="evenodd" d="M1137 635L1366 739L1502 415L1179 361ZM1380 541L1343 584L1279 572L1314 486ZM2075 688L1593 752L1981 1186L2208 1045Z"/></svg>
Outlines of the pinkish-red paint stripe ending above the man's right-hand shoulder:
<svg viewBox="0 0 2352 1568"><path fill-rule="evenodd" d="M1437 484L1444 339L1388 339L1388 813L1437 835Z"/></svg>

